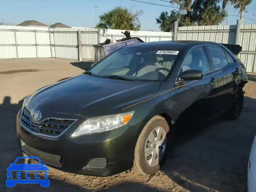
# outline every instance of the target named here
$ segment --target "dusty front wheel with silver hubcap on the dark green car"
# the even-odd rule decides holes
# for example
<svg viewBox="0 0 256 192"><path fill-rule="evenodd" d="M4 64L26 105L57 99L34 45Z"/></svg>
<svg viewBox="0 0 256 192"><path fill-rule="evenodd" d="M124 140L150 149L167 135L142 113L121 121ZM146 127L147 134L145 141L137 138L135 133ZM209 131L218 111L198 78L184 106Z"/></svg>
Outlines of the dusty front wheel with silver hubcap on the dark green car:
<svg viewBox="0 0 256 192"><path fill-rule="evenodd" d="M154 174L160 169L166 157L166 142L169 130L168 123L159 115L154 116L144 126L134 151L133 170L135 172L138 174Z"/></svg>

